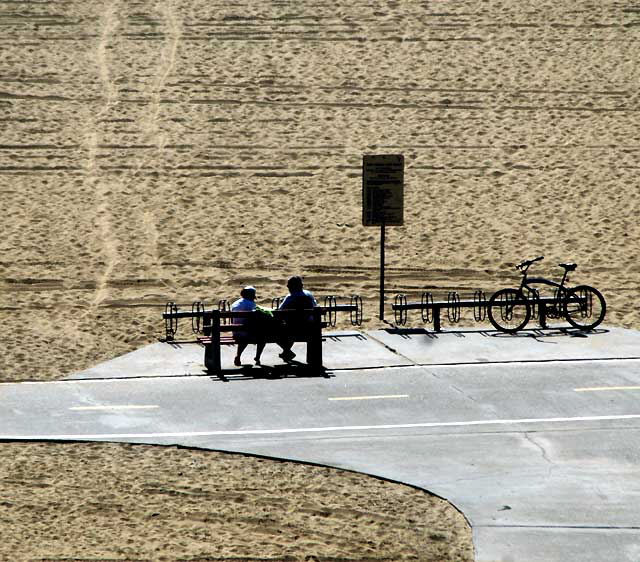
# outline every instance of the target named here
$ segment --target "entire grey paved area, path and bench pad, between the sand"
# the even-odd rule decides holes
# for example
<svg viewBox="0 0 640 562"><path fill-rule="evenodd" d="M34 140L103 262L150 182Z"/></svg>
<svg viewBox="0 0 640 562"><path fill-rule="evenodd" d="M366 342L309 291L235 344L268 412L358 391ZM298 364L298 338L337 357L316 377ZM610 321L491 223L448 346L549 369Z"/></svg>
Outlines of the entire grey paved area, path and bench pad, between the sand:
<svg viewBox="0 0 640 562"><path fill-rule="evenodd" d="M325 376L268 346L264 369L232 368L228 348L210 377L200 346L159 343L66 381L3 384L0 438L348 468L447 498L481 562L640 559L640 333L342 332L324 350Z"/></svg>

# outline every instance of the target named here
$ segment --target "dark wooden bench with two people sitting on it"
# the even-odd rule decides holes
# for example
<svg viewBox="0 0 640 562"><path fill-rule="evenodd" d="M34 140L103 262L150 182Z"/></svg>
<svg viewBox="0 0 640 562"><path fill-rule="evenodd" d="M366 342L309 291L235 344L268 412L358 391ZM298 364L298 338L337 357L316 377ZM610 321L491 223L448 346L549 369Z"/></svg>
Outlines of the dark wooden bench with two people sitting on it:
<svg viewBox="0 0 640 562"><path fill-rule="evenodd" d="M235 345L237 342L233 337L233 333L246 330L246 326L242 324L224 324L223 321L249 317L252 314L260 313L220 310L212 310L207 313L206 318L210 320L210 323L206 323L204 327L209 336L200 337L198 341L204 345L204 364L209 372L220 373L222 371L220 346ZM286 329L282 332L274 331L265 333L260 338L250 338L247 342L253 344L277 343L282 337L287 337L294 342L304 342L307 344L307 365L311 368L322 369L322 328L327 326L327 323L322 321L325 310L321 307L305 310L273 310L272 314L277 320L284 320L285 322L287 318L299 318L300 315L305 315L311 318L311 322L309 322L308 329L304 331L297 333L287 332Z"/></svg>

